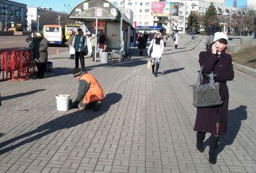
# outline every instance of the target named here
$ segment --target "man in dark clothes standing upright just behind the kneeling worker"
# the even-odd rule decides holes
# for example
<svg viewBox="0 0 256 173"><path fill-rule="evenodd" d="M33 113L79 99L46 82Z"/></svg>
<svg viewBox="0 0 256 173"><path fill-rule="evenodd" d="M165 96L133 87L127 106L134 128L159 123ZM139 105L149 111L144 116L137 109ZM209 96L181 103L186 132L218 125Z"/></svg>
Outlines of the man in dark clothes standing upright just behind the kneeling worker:
<svg viewBox="0 0 256 173"><path fill-rule="evenodd" d="M75 68L79 67L79 59L82 69L84 69L84 49L87 47L86 37L82 29L78 29L78 34L74 36L72 45L75 48Z"/></svg>

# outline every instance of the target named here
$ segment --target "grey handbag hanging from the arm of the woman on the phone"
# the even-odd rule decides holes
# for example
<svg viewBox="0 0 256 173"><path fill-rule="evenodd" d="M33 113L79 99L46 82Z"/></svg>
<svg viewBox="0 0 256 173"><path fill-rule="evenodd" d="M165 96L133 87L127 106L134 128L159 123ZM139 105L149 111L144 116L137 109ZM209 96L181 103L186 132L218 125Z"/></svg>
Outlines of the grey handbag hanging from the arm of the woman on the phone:
<svg viewBox="0 0 256 173"><path fill-rule="evenodd" d="M202 84L202 69L200 69L197 82L193 87L193 106L194 107L212 107L222 104L219 95L219 83L214 82L213 72L210 75L210 83Z"/></svg>

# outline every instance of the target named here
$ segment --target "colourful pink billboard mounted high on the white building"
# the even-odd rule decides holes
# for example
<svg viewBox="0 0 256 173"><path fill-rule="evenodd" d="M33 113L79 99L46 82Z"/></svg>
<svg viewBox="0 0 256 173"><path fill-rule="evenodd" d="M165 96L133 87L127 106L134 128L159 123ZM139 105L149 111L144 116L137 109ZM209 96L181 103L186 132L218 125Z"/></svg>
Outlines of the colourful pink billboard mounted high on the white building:
<svg viewBox="0 0 256 173"><path fill-rule="evenodd" d="M178 16L178 2L152 2L151 14L153 16Z"/></svg>

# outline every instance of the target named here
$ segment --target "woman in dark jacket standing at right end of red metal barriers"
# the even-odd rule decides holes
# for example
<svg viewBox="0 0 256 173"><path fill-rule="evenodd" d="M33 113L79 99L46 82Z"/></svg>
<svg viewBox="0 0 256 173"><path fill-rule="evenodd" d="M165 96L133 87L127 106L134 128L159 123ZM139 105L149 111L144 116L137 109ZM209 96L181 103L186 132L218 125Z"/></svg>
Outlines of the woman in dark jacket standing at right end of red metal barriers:
<svg viewBox="0 0 256 173"><path fill-rule="evenodd" d="M44 78L44 65L48 61L48 43L43 33L36 33L36 39L33 46L33 59L37 65L37 78Z"/></svg>

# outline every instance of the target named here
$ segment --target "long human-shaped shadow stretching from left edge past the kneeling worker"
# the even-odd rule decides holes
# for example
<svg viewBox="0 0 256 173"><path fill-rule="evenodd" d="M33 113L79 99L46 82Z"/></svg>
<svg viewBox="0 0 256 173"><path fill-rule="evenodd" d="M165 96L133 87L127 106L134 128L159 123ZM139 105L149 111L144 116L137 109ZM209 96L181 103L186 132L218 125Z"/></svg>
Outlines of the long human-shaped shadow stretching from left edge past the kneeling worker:
<svg viewBox="0 0 256 173"><path fill-rule="evenodd" d="M0 150L0 155L3 155L6 152L14 150L24 144L31 143L34 140L38 140L48 134L59 131L60 129L71 128L77 125L80 125L86 121L90 121L92 119L101 116L106 112L111 105L119 102L122 98L121 94L110 93L107 94L103 100L102 108L98 112L94 112L92 110L78 110L74 113L69 113L63 116L60 116L54 120L46 122L42 126L37 127L33 131L24 133L19 135L18 137L3 141L0 143L0 149L4 146L7 146L11 143L15 143L15 141L21 140L22 138L26 138L19 143L15 143L14 145L8 146L5 149ZM0 134L1 135L1 134ZM32 135L32 136L31 136Z"/></svg>

